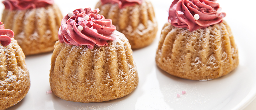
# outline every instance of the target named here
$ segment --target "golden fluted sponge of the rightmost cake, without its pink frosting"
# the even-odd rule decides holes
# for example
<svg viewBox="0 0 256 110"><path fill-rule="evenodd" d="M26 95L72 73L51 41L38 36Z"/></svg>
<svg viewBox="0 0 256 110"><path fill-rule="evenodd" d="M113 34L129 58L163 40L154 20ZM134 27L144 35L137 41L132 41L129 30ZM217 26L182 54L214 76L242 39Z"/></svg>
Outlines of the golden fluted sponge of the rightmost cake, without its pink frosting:
<svg viewBox="0 0 256 110"><path fill-rule="evenodd" d="M170 23L163 27L156 64L167 73L191 80L215 79L238 66L238 50L225 21L190 32Z"/></svg>

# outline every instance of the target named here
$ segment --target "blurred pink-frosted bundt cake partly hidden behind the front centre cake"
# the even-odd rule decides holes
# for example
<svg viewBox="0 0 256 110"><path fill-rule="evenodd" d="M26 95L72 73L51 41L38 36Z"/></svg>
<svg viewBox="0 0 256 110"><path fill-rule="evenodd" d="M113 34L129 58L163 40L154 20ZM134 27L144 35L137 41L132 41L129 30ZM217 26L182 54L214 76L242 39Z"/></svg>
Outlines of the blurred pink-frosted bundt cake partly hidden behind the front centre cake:
<svg viewBox="0 0 256 110"><path fill-rule="evenodd" d="M150 45L157 33L157 22L151 2L146 0L101 0L95 8L112 19L116 30L123 33L132 49Z"/></svg>

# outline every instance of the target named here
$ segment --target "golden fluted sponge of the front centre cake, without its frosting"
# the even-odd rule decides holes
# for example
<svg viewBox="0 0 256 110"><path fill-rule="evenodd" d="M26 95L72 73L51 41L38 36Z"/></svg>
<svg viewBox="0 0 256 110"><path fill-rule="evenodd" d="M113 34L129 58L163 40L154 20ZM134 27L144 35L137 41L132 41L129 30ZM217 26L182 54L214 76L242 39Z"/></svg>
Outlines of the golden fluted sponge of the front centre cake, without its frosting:
<svg viewBox="0 0 256 110"><path fill-rule="evenodd" d="M124 97L138 85L131 46L122 33L108 46L55 44L51 59L50 85L61 99L102 102Z"/></svg>

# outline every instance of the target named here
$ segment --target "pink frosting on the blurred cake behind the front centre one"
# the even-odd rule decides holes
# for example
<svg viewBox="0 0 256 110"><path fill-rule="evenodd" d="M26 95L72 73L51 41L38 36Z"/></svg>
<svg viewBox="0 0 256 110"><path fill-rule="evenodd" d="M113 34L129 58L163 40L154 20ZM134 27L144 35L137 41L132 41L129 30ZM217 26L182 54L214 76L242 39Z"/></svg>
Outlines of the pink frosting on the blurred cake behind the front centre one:
<svg viewBox="0 0 256 110"><path fill-rule="evenodd" d="M118 3L119 8L124 8L126 6L134 6L136 3L137 4L141 4L142 0L100 0L102 4L106 4L106 3L112 3L112 4L116 4Z"/></svg>

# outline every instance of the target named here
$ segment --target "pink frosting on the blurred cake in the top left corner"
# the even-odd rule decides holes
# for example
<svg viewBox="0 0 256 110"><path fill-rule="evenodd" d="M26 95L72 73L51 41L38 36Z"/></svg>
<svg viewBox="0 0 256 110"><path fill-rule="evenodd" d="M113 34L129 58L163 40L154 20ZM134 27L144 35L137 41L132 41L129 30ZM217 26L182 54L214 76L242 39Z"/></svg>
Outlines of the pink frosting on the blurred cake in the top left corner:
<svg viewBox="0 0 256 110"><path fill-rule="evenodd" d="M53 0L5 0L3 4L5 9L9 10L25 10L33 9L37 7L45 7L52 5Z"/></svg>

